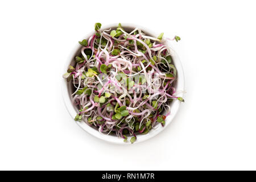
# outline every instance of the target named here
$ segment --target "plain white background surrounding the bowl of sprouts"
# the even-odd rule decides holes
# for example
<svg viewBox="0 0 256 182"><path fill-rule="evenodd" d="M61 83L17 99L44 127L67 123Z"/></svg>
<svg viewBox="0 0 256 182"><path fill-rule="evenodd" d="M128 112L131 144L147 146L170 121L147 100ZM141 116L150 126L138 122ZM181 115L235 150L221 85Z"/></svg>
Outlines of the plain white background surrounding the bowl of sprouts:
<svg viewBox="0 0 256 182"><path fill-rule="evenodd" d="M1 1L0 169L256 169L254 1ZM163 133L118 146L80 129L63 64L95 22L179 35L185 103Z"/></svg>

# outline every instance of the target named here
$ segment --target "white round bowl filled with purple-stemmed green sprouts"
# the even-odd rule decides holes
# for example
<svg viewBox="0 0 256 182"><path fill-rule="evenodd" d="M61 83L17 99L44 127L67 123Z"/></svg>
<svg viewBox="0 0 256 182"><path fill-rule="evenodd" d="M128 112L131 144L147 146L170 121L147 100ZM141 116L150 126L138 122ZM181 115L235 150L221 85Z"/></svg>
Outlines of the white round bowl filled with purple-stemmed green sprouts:
<svg viewBox="0 0 256 182"><path fill-rule="evenodd" d="M73 120L118 144L163 131L184 102L183 68L170 46L179 40L134 24L96 23L63 71L63 98Z"/></svg>

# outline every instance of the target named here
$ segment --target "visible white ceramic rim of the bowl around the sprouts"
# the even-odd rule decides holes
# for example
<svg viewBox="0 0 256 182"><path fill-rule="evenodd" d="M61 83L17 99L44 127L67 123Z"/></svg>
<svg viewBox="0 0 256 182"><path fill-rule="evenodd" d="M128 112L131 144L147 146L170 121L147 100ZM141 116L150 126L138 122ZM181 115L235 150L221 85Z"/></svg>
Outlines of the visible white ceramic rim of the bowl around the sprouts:
<svg viewBox="0 0 256 182"><path fill-rule="evenodd" d="M102 26L101 30L109 30L109 28L116 28L118 25L117 24L109 24L107 26ZM154 31L149 30L148 28L144 28L141 26L138 26L136 24L127 24L127 23L122 23L122 27L125 30L133 30L134 28L138 27L141 28L141 30L147 34L147 35L151 35L153 37L158 37L159 32L156 34ZM94 31L91 31L89 34L87 34L83 39L88 39L89 36L93 35ZM81 38L82 40L82 38ZM78 40L77 40L78 41ZM166 43L167 46L170 46ZM78 55L81 51L81 46L79 43L76 44L75 48L73 49L73 51L71 52L71 54L68 56L68 59L65 63L64 69L63 69L63 73L67 72L68 66L70 64L74 64L74 57L76 55ZM172 60L173 60L173 64L175 65L176 69L177 69L177 80L176 80L176 90L184 90L184 73L183 73L183 68L181 65L181 62L179 60L179 57L176 55L176 53L174 52L172 54ZM63 90L63 99L65 102L65 106L67 107L67 110L69 112L69 114L71 115L72 119L75 118L76 114L79 113L78 109L76 106L74 106L72 104L72 97L71 97L71 88L72 88L72 84L70 84L70 82L67 82L66 79L62 78L62 90ZM183 96L182 93L179 94L180 97ZM166 129L166 127L171 123L172 119L174 119L179 106L180 106L180 101L178 100L174 100L171 103L171 114L168 115L168 117L166 118L166 125L164 127L160 126L157 127L156 129L152 129L150 130L147 134L138 134L137 135L137 140L135 143L138 142L142 142L144 140L150 139L152 137L154 137L155 135L159 134L161 131L163 131L164 129ZM73 120L73 122L76 122ZM130 142L123 142L122 138L118 138L114 135L106 135L106 134L102 134L100 133L98 130L94 129L93 127L89 126L88 124L86 124L85 122L76 122L82 129L84 129L85 131L87 131L89 134L93 135L94 137L100 138L102 140L105 140L106 142L111 142L111 143L116 143L116 144L130 144Z"/></svg>

